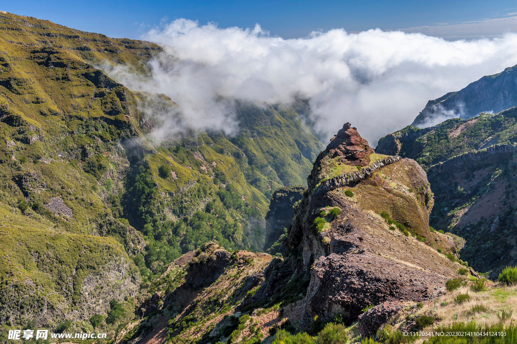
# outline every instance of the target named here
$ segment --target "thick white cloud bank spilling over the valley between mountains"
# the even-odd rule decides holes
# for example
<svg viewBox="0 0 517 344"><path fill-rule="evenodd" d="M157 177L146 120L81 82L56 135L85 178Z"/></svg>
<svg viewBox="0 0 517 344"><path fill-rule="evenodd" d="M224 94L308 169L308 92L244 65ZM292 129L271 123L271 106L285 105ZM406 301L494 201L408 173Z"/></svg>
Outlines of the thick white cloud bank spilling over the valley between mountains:
<svg viewBox="0 0 517 344"><path fill-rule="evenodd" d="M310 99L317 130L331 136L349 121L375 145L411 123L428 100L517 64L517 34L451 42L333 29L282 39L259 25L219 28L179 19L144 38L165 51L150 62L152 78L139 80L122 69L110 73L132 89L163 93L177 103L183 120L169 121L162 132L187 126L232 133L233 100L288 104L302 97Z"/></svg>

